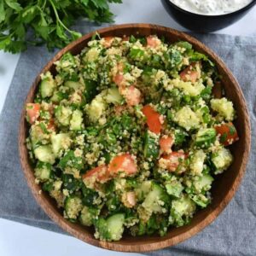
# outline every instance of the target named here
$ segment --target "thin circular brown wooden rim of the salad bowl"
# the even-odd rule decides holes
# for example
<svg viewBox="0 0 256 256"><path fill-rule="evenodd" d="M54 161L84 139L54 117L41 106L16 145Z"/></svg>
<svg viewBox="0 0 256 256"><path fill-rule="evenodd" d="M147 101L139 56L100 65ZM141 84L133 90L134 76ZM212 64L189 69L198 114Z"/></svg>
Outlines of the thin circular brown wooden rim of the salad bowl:
<svg viewBox="0 0 256 256"><path fill-rule="evenodd" d="M249 120L249 114L247 111L247 104L245 101L245 98L242 94L240 85L234 78L233 74L230 72L230 69L225 66L224 61L222 61L218 55L216 55L212 49L209 49L205 44L202 44L197 39L189 36L188 34L184 32L178 32L177 30L174 30L172 28L166 27L166 26L157 26L152 24L144 24L144 23L131 23L131 24L123 24L123 25L116 25L116 26L108 26L104 27L102 29L98 29L94 32L90 32L88 34L85 34L82 38L79 38L78 40L74 41L71 44L68 44L65 48L61 49L41 70L41 72L38 74L37 78L32 84L31 89L29 90L27 96L26 96L26 102L24 103L24 106L26 106L26 103L29 102L29 96L31 92L34 90L36 91L36 88L38 87L38 83L40 81L40 74L45 73L49 67L52 66L53 62L59 60L61 58L61 55L69 51L70 49L73 49L76 45L84 42L88 38L91 38L95 32L98 32L99 34L102 34L104 32L114 32L116 30L121 29L129 29L129 28L137 28L137 29L154 29L158 32L163 33L169 33L172 36L182 38L183 40L188 41L189 43L193 44L193 46L198 47L199 49L202 49L203 51L207 52L207 55L211 57L213 61L218 63L219 66L223 69L224 73L227 75L227 77L230 79L232 86L234 86L234 89L236 90L237 96L241 99L241 107L243 108L244 116L245 116L245 124L248 127L248 131L245 131L245 149L242 156L241 156L241 168L238 172L238 175L236 176L232 187L230 188L229 192L224 196L223 201L221 204L213 209L210 214L207 215L207 218L204 218L201 220L199 224L196 224L193 228L190 230L178 234L177 236L174 236L172 238L166 238L160 237L161 241L155 240L155 241L145 241L141 242L140 244L132 244L132 243L122 243L121 241L115 241L115 242L108 242L108 241L98 241L94 237L92 238L86 233L79 232L78 230L75 230L73 224L68 222L66 219L64 219L60 213L56 212L53 207L51 207L48 200L45 200L44 196L40 193L40 186L35 183L34 181L34 175L32 172L32 167L30 166L28 160L27 160L27 154L26 154L26 134L25 134L25 116L26 116L26 108L24 107L21 116L20 116L20 130L19 130L19 153L20 153L20 163L22 166L22 170L26 177L26 182L29 186L29 188L32 190L32 194L35 197L36 201L38 202L38 205L44 209L44 212L51 218L56 224L61 226L63 230L66 230L71 235L79 238L82 241L85 241L91 245L94 245L96 247L102 247L113 251L119 251L119 252L148 252L152 250L161 249L164 247L170 247L173 245L176 245L179 242L182 242L186 239L188 239L191 236L194 236L196 233L203 230L208 224L211 224L212 221L218 217L218 214L224 210L224 207L227 206L227 204L230 202L232 197L236 193L236 189L238 189L239 184L241 183L241 178L246 171L246 165L247 160L249 156L250 151L250 144L251 144L251 136L250 136L250 120Z"/></svg>

